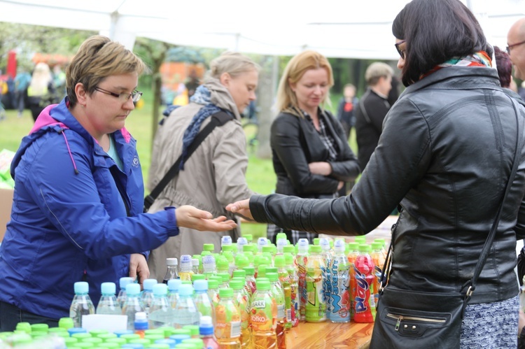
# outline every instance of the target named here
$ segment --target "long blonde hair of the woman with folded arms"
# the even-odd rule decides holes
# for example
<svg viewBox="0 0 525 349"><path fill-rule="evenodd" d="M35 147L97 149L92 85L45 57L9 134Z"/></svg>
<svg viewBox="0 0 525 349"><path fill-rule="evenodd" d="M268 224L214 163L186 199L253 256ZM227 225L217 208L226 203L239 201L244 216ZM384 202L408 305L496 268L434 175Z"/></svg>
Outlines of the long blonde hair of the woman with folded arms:
<svg viewBox="0 0 525 349"><path fill-rule="evenodd" d="M328 73L328 86L332 87L334 85L332 66L330 66L328 59L321 55L321 53L306 50L290 59L290 62L286 64L283 76L281 76L281 80L279 81L279 88L277 89L276 107L278 111L286 111L287 113L303 117L302 113L299 113L300 108L297 102L297 96L295 96L295 92L292 91L290 84L295 84L301 80L306 71L319 68L326 69ZM330 92L325 95L325 99L321 101L321 103L325 101L328 101L328 104L330 104Z"/></svg>

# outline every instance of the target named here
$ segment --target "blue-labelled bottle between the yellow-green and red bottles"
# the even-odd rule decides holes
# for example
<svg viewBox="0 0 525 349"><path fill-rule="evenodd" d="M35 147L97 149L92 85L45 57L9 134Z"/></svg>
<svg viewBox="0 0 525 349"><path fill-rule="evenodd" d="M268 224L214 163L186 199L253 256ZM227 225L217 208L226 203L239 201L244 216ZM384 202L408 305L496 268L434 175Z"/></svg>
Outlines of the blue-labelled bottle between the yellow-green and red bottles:
<svg viewBox="0 0 525 349"><path fill-rule="evenodd" d="M330 265L330 312L328 320L331 322L349 322L350 321L350 264L348 258L344 255L345 243L343 240L334 242L334 255Z"/></svg>

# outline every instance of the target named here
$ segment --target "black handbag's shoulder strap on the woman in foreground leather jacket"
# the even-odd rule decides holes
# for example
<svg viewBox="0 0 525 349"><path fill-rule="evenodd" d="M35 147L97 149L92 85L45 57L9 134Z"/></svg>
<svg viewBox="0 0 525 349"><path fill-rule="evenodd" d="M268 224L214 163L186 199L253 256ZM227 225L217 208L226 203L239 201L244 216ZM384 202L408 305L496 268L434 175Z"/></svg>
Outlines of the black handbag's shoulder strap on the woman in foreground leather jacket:
<svg viewBox="0 0 525 349"><path fill-rule="evenodd" d="M509 96L507 96L507 97L509 97ZM516 104L514 103L514 99L512 99L511 97L509 97L509 98L510 98L510 101L512 101L512 106L514 108L514 114L516 116L517 136L516 136L516 149L514 150L514 162L512 163L512 169L510 171L510 176L509 176L509 179L507 181L507 186L505 187L505 193L503 194L503 199L502 199L502 201L500 201L500 206L498 208L498 213L496 213L496 218L494 218L494 222L493 222L491 230L489 232L489 236L487 236L486 241L485 241L485 243L483 245L482 252L479 255L479 259L478 259L478 262L477 262L476 267L474 269L473 276L472 276L472 278L470 278L470 280L468 280L461 287L460 292L465 290L465 288L468 287L467 288L467 292L465 292L465 301L463 302L463 311L465 310L465 307L467 306L467 303L470 300L470 297L472 297L472 293L476 289L476 282L477 282L477 279L479 278L479 274L481 274L483 266L485 265L486 259L489 257L489 250L490 250L490 248L492 246L492 243L494 241L494 238L496 236L496 231L498 229L499 221L500 221L500 218L501 218L501 213L503 211L503 204L505 203L505 199L507 199L507 194L510 192L510 187L512 186L512 182L514 181L514 176L516 175L516 172L517 172L517 169L518 169L519 155L520 155L519 150L521 149L521 146L520 146L521 145L521 124L519 122L518 111L517 111L517 108L516 108ZM381 283L380 283L380 286L379 286L379 292L380 292L379 294L382 294L382 292L384 290L384 286L388 283L388 276L389 276L389 273L390 273L389 269L391 268L391 265L392 265L394 232L395 232L395 229L396 229L397 225L398 225L398 223L396 222L392 226L392 229L391 229L392 235L391 235L390 247L388 248L388 252L387 252L387 255L386 255L386 258L385 258L383 270L381 271L381 279L380 279ZM381 297L379 297L379 299L381 299Z"/></svg>

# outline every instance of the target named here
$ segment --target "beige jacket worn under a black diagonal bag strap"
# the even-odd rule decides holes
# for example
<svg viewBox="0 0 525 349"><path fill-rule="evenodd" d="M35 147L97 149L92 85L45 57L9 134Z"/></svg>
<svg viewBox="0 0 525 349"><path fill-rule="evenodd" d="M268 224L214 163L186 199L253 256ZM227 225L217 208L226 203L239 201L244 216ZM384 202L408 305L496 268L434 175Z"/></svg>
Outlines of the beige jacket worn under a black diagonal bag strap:
<svg viewBox="0 0 525 349"><path fill-rule="evenodd" d="M184 162L183 171L174 178L159 195L149 212L161 211L165 206L192 205L211 212L214 217L226 215L233 218L225 206L232 202L251 197L246 184L246 136L241 127L237 106L221 83L210 79L204 84L211 92L211 102L231 111L235 120L216 127L207 136L193 155ZM151 191L181 155L182 138L193 116L202 108L201 104L190 103L175 109L160 126L153 142L153 155L148 180ZM204 120L201 129L209 122ZM239 228L237 228L239 229ZM180 228L180 234L169 238L159 248L152 250L148 259L151 278L159 282L165 276L166 258L181 255L195 255L202 252L204 243L214 243L215 251L221 248L221 236L230 235L237 241L235 231L215 233L198 232Z"/></svg>

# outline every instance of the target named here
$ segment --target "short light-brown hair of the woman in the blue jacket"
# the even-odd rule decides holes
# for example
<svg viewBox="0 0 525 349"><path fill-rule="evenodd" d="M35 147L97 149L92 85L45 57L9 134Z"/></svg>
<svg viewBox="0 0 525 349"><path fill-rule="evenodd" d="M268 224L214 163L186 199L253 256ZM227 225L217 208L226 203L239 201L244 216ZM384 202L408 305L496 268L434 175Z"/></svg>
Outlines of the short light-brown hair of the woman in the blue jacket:
<svg viewBox="0 0 525 349"><path fill-rule="evenodd" d="M83 84L87 94L92 94L108 76L134 72L141 75L144 71L148 71L146 64L124 45L106 36L91 36L80 45L66 69L66 93L70 106L77 102L75 86L78 83Z"/></svg>

